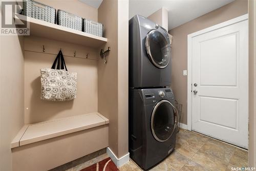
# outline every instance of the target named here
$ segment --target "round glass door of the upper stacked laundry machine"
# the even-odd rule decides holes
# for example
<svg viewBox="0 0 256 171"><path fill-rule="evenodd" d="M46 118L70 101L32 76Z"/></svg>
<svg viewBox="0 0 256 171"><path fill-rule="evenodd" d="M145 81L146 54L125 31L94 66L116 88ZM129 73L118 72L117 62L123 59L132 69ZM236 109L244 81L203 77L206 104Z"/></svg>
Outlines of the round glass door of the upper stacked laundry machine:
<svg viewBox="0 0 256 171"><path fill-rule="evenodd" d="M170 44L158 30L151 30L145 39L145 48L148 58L157 68L167 67L170 61Z"/></svg>

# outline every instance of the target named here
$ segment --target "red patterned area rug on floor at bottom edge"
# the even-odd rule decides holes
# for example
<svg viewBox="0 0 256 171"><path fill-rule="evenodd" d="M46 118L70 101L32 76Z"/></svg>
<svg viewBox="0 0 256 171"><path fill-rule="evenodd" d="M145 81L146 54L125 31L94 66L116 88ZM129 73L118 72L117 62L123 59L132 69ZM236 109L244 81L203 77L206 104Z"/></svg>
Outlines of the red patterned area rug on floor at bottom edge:
<svg viewBox="0 0 256 171"><path fill-rule="evenodd" d="M115 163L109 158L106 158L96 164L83 168L80 171L119 171Z"/></svg>

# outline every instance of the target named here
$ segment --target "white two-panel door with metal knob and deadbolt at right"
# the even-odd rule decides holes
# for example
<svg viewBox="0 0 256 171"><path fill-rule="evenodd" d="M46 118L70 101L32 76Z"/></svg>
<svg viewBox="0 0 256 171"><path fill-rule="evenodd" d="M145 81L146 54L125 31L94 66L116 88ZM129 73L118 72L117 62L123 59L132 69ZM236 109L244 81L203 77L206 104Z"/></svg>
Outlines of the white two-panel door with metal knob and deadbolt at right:
<svg viewBox="0 0 256 171"><path fill-rule="evenodd" d="M248 20L191 43L191 129L248 148Z"/></svg>

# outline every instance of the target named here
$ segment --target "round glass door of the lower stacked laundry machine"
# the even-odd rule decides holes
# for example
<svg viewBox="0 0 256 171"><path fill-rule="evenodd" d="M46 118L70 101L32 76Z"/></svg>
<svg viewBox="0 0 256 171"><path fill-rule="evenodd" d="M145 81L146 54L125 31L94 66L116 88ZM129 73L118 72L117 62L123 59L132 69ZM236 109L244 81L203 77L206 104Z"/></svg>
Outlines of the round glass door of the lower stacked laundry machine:
<svg viewBox="0 0 256 171"><path fill-rule="evenodd" d="M159 142L167 141L178 123L178 111L168 100L159 101L152 112L151 130L154 138Z"/></svg>

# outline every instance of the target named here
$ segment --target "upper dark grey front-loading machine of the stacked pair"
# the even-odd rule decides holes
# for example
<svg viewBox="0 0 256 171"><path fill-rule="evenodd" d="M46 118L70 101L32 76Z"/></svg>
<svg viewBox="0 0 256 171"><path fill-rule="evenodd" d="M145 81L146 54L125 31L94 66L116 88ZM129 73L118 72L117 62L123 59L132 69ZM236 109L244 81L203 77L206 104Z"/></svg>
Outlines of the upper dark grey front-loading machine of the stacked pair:
<svg viewBox="0 0 256 171"><path fill-rule="evenodd" d="M170 86L171 54L167 31L135 15L129 20L129 87Z"/></svg>

